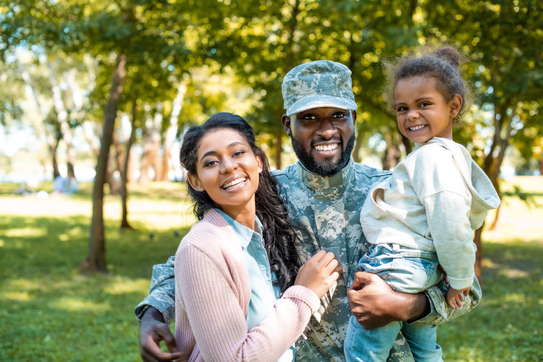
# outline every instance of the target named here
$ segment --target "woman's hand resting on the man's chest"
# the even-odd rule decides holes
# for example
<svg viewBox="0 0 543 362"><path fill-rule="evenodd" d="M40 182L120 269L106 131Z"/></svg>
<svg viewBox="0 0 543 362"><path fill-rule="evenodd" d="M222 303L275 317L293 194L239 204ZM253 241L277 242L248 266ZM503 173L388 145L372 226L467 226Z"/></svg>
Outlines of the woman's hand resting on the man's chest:
<svg viewBox="0 0 543 362"><path fill-rule="evenodd" d="M334 271L337 265L334 253L320 250L300 267L294 285L303 285L313 290L320 299L339 278L338 272Z"/></svg>

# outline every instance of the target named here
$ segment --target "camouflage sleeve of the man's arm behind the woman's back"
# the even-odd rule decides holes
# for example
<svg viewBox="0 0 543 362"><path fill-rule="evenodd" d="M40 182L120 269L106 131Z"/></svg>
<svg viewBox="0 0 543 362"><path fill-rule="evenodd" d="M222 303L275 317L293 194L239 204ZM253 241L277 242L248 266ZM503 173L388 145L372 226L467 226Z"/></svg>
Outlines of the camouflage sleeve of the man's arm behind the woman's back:
<svg viewBox="0 0 543 362"><path fill-rule="evenodd" d="M141 321L143 313L149 307L155 307L162 313L164 321L169 324L175 316L175 281L174 281L175 257L171 256L165 264L153 265L153 276L149 295L141 301L134 314L138 322Z"/></svg>

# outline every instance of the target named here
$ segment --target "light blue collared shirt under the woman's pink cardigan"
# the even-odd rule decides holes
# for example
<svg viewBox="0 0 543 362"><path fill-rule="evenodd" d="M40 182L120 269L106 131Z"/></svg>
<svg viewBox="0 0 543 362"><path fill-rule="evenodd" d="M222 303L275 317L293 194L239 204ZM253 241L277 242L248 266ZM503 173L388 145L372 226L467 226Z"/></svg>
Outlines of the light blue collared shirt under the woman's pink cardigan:
<svg viewBox="0 0 543 362"><path fill-rule="evenodd" d="M249 271L251 299L247 309L247 317L245 317L247 332L249 332L251 328L258 326L270 312L273 312L277 291L279 290L278 287L273 287L271 284L270 263L262 239L262 223L255 215L255 230L251 230L226 215L223 211L216 210L238 236L239 245L243 250L243 256ZM275 279L275 275L273 277ZM278 362L291 362L293 360L294 348L291 347L281 356Z"/></svg>

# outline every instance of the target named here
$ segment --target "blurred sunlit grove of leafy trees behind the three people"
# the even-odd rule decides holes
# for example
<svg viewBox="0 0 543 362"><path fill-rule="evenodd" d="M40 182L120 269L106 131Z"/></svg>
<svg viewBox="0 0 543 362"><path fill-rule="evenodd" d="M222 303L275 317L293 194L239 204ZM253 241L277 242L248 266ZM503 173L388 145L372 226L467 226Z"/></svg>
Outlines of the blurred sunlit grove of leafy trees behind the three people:
<svg viewBox="0 0 543 362"><path fill-rule="evenodd" d="M2 3L0 21L4 134L31 131L46 179L60 174L59 159L82 173L96 166L84 270L106 269L104 185L122 196L129 227L127 182L180 180L178 136L212 113L241 114L276 168L292 163L281 81L307 61L351 69L353 157L392 169L413 145L384 107L381 61L413 46L456 46L478 96L456 141L498 193L503 166L543 171L541 2L21 0ZM17 153L6 148L5 174ZM481 230L475 241L480 262Z"/></svg>

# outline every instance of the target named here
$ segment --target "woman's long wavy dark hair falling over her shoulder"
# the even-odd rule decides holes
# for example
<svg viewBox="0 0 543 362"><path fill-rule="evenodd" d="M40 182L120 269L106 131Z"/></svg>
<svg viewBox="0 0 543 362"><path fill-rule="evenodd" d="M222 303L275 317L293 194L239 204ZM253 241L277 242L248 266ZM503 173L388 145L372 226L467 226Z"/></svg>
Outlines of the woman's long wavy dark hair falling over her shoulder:
<svg viewBox="0 0 543 362"><path fill-rule="evenodd" d="M294 243L296 242L295 227L288 219L287 209L283 199L279 196L280 185L275 177L270 174L268 157L264 151L256 145L255 134L251 126L243 119L232 113L216 113L203 125L193 126L185 133L179 161L188 173L198 176L196 172L197 153L201 139L210 131L218 129L230 129L237 131L249 143L252 153L260 156L262 160L262 172L258 180L258 188L255 193L256 215L264 228L263 237L271 271L275 271L281 292L294 284L298 274L298 253ZM193 189L187 181L188 193L194 200L193 212L198 220L204 217L204 213L211 208L220 208L205 191Z"/></svg>

